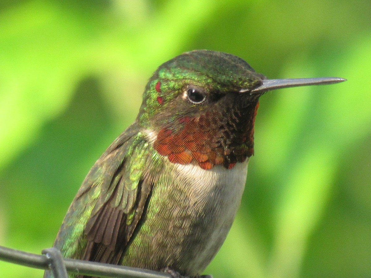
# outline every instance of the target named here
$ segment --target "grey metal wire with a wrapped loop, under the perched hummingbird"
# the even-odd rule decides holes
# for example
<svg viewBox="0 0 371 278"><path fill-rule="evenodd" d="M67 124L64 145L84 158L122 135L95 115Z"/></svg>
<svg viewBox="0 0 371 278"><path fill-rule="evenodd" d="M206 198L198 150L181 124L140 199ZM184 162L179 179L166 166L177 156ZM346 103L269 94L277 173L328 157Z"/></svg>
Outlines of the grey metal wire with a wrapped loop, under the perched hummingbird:
<svg viewBox="0 0 371 278"><path fill-rule="evenodd" d="M61 256L59 258L59 255L56 254L56 250L57 249L55 248L49 248L43 251L43 254L45 255L36 255L0 246L0 260L12 262L13 264L24 265L26 267L51 269L53 273L55 273L53 269L55 268L57 275L61 275L55 276L55 278L65 277L63 276L62 268L66 269L69 273L84 274L102 278L171 278L170 274L158 271L102 264L98 262L81 261L76 259L65 259ZM60 264L62 264L62 266Z"/></svg>

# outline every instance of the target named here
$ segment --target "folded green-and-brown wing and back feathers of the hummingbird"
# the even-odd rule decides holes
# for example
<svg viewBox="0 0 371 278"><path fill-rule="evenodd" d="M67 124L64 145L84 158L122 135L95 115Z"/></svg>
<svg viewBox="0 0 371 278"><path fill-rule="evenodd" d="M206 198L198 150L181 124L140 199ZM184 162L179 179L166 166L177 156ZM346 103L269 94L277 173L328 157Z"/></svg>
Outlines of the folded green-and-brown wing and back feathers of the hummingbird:
<svg viewBox="0 0 371 278"><path fill-rule="evenodd" d="M148 142L130 128L97 160L73 200L54 246L64 257L117 264L151 191Z"/></svg>

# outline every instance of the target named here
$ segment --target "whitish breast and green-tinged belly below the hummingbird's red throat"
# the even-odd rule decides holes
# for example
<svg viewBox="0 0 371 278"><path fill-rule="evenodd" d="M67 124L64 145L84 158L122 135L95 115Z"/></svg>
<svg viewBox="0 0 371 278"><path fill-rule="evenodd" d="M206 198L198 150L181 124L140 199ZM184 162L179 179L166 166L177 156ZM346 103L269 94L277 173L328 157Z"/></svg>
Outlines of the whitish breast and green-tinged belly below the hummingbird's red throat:
<svg viewBox="0 0 371 278"><path fill-rule="evenodd" d="M248 159L228 170L172 164L153 189L122 264L182 275L202 272L223 244L240 205Z"/></svg>

